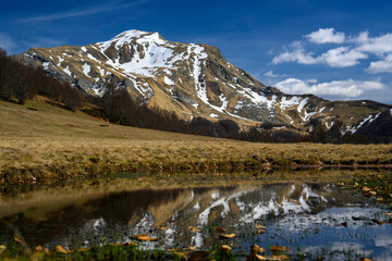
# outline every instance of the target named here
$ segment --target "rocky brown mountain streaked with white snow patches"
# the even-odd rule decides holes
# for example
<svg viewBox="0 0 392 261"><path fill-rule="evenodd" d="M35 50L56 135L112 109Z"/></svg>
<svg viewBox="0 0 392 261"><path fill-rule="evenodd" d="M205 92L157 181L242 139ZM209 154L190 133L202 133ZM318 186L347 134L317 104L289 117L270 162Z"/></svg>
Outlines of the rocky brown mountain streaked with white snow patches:
<svg viewBox="0 0 392 261"><path fill-rule="evenodd" d="M356 133L380 115L392 121L389 104L285 95L228 62L216 47L169 41L158 33L127 30L103 42L33 48L15 57L90 95L102 96L113 83L186 121L230 119L242 126L299 132L339 123L341 134Z"/></svg>

